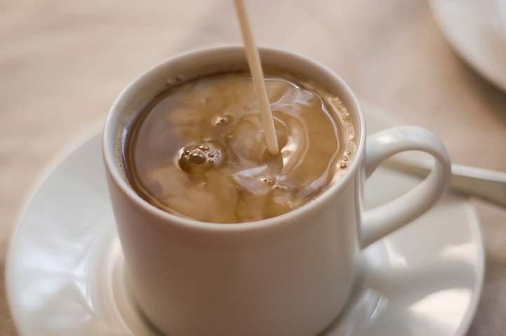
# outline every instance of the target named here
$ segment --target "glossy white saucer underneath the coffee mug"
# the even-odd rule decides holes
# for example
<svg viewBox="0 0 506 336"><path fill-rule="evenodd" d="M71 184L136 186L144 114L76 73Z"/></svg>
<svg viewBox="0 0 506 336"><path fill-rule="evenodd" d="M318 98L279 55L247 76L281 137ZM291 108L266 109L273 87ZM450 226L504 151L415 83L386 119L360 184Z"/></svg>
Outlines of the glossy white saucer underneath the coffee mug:
<svg viewBox="0 0 506 336"><path fill-rule="evenodd" d="M366 106L369 130L388 123ZM36 191L11 241L6 284L22 336L153 336L128 293L100 135L65 158ZM367 204L419 180L380 167ZM484 276L479 223L447 194L428 214L369 246L346 311L322 336L464 335Z"/></svg>

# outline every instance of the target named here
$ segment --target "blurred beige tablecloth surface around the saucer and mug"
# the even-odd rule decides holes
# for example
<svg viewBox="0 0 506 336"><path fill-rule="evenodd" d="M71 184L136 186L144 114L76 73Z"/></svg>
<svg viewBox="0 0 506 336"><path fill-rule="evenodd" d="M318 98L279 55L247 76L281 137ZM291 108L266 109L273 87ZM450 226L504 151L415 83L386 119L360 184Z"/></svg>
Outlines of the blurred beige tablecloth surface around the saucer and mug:
<svg viewBox="0 0 506 336"><path fill-rule="evenodd" d="M453 2L459 10L472 1ZM435 132L454 163L506 170L506 94L453 50L428 1L246 5L257 44L328 66L398 123ZM4 281L8 239L55 157L78 134L98 130L118 94L146 69L182 52L241 43L231 0L1 1L1 335L18 335ZM470 202L486 274L467 336L504 335L506 209Z"/></svg>

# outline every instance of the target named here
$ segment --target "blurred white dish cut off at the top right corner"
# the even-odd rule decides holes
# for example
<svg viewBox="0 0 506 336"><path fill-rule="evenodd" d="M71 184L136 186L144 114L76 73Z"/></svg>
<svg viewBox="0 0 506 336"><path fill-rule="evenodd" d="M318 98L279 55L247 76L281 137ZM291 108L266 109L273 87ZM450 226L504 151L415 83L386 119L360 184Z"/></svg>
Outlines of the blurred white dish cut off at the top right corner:
<svg viewBox="0 0 506 336"><path fill-rule="evenodd" d="M453 48L481 76L506 90L506 0L431 0Z"/></svg>

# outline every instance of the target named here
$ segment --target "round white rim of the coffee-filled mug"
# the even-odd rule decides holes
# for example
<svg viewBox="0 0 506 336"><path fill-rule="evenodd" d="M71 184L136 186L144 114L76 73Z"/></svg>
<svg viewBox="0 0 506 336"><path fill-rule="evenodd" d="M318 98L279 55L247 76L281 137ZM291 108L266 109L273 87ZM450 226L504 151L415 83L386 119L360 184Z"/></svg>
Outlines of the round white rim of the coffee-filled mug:
<svg viewBox="0 0 506 336"><path fill-rule="evenodd" d="M264 227L270 227L273 225L281 225L282 223L291 223L296 221L296 218L300 216L303 212L311 211L311 209L318 207L319 204L325 203L329 201L329 198L334 197L336 193L339 193L345 186L349 183L353 183L353 179L355 174L359 174L357 172L360 169L362 158L364 157L365 152L365 139L366 139L366 128L365 128L365 120L364 113L362 108L358 102L357 97L350 89L348 84L334 71L331 71L326 66L316 62L313 59L308 57L297 55L293 52L289 52L286 50L281 50L277 48L266 48L259 47L259 54L261 57L262 63L264 63L264 59L269 57L282 57L284 59L289 60L294 64L303 64L303 66L309 67L313 70L317 70L317 76L325 75L327 80L330 80L333 85L337 85L341 92L336 94L341 101L343 100L343 95L346 95L348 100L348 104L345 104L346 109L348 109L348 113L352 114L353 127L355 130L355 155L353 156L353 160L346 172L344 172L343 176L339 178L338 181L332 184L327 190L320 195L318 195L315 200L311 200L310 202L303 204L301 207L288 211L285 214L281 214L278 216L274 216L271 218L264 218L257 221L248 221L248 222L239 222L239 223L216 223L216 222L204 222L198 221L193 218L185 218L182 216L177 216L175 214L170 214L163 209L159 209L155 207L153 204L150 204L146 200L144 200L140 195L138 195L135 190L130 186L128 181L123 178L118 164L115 160L115 142L113 141L117 139L119 132L119 127L114 127L115 125L121 125L121 120L125 120L125 116L122 113L122 109L124 109L125 104L123 101L128 99L128 97L135 95L146 87L146 83L149 82L149 79L153 79L157 76L160 71L166 69L169 66L178 67L178 64L187 63L190 59L195 61L200 61L200 64L211 64L207 59L216 58L219 55L233 55L238 52L242 52L242 57L240 57L240 62L246 62L246 55L244 46L226 46L226 47L216 47L216 48L205 48L202 50L196 50L191 52L185 52L180 55L175 55L174 57L170 57L165 61L153 66L151 69L144 71L140 76L137 76L135 80L128 84L127 87L121 92L121 94L114 102L111 107L109 114L107 116L107 120L104 125L104 132L102 134L102 157L104 160L104 167L107 170L109 176L111 176L112 182L118 186L123 195L128 197L128 199L132 202L135 202L139 207L141 207L144 211L157 218L166 221L167 223L171 223L171 225L177 224L184 228L193 228L198 230L212 230L212 231L240 231L240 230L251 230L251 229L259 229ZM202 61L204 59L204 61ZM226 68L227 69L227 68ZM287 68L288 71L293 73L297 73L299 69L295 69L294 66ZM228 66L228 70L230 70L230 66ZM316 80L317 83L320 83L320 78L317 76L310 76L308 78ZM183 80L184 81L184 80ZM162 83L158 84L158 87L163 86ZM325 86L325 85L324 85ZM151 90L152 91L152 90ZM335 94L336 92L331 92ZM153 92L151 94L151 98L153 98L156 93ZM353 105L353 106L350 106ZM352 110L353 112L351 112Z"/></svg>

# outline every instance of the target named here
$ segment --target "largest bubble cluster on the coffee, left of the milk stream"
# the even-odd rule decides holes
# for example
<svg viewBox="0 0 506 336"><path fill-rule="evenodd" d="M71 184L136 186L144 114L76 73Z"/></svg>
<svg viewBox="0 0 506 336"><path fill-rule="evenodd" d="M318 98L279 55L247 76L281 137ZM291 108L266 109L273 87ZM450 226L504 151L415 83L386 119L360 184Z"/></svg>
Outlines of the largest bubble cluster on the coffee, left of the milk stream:
<svg viewBox="0 0 506 336"><path fill-rule="evenodd" d="M219 146L211 142L200 142L183 149L179 167L187 173L203 172L218 167L222 158Z"/></svg>

